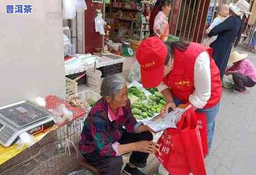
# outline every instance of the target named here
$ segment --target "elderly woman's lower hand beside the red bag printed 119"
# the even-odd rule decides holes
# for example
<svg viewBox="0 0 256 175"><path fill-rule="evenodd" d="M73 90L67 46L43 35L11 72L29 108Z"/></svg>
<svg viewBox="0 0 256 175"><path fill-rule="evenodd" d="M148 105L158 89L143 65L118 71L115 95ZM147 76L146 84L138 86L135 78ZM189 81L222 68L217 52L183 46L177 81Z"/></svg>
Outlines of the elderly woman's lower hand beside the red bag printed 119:
<svg viewBox="0 0 256 175"><path fill-rule="evenodd" d="M135 142L134 151L155 153L155 152L159 152L159 145L152 141L143 140L143 141Z"/></svg>

